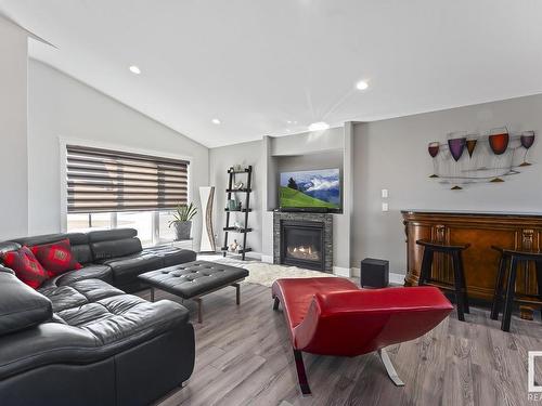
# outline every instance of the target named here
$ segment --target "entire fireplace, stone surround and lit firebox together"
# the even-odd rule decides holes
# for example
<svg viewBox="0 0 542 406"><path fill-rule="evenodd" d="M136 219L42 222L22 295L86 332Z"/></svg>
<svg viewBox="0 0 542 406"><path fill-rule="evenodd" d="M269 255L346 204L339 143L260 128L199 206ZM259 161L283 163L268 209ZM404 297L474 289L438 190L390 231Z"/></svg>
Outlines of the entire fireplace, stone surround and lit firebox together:
<svg viewBox="0 0 542 406"><path fill-rule="evenodd" d="M333 215L273 213L273 262L333 272Z"/></svg>

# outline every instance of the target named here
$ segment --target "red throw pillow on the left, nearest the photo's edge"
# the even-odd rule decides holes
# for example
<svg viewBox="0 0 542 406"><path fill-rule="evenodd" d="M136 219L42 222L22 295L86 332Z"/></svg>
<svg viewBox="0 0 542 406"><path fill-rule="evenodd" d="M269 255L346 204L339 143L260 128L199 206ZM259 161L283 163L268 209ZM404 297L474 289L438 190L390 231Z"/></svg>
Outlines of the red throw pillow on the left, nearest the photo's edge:
<svg viewBox="0 0 542 406"><path fill-rule="evenodd" d="M47 271L41 266L36 257L34 257L33 251L28 247L22 247L16 251L3 253L2 261L5 266L15 272L15 275L22 281L34 289L39 288L44 280L49 279Z"/></svg>

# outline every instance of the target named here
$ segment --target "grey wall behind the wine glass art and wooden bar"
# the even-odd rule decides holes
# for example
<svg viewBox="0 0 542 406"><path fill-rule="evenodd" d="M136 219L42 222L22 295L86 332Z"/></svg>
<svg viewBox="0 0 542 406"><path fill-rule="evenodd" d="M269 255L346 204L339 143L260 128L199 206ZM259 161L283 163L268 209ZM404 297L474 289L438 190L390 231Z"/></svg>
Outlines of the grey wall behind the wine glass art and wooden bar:
<svg viewBox="0 0 542 406"><path fill-rule="evenodd" d="M450 191L433 173L427 144L446 141L456 130L483 133L506 125L512 132L534 130L529 152L537 162L504 183ZM400 210L505 210L542 212L542 95L453 108L354 126L353 226L351 265L365 257L390 260L390 271L404 273L406 250ZM380 189L389 189L389 212L382 212ZM467 241L466 241L467 243Z"/></svg>

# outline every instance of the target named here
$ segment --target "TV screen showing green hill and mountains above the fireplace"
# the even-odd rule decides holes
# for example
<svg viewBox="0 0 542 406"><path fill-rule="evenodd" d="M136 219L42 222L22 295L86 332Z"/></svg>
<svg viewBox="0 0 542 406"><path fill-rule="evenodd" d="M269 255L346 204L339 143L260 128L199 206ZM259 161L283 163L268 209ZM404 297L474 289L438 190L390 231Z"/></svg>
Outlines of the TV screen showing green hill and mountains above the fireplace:
<svg viewBox="0 0 542 406"><path fill-rule="evenodd" d="M338 169L281 173L281 207L340 209Z"/></svg>

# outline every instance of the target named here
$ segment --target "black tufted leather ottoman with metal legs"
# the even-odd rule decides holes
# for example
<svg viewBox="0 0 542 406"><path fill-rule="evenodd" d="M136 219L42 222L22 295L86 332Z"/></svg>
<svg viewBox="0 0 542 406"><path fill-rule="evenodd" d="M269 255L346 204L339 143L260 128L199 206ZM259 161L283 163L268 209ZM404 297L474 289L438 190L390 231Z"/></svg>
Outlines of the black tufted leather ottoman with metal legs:
<svg viewBox="0 0 542 406"><path fill-rule="evenodd" d="M202 297L233 286L236 303L241 302L241 286L248 271L242 267L223 265L218 262L193 261L180 265L164 267L139 275L139 279L151 286L151 300L154 301L154 289L176 294L181 299L197 302L197 322L203 322Z"/></svg>

